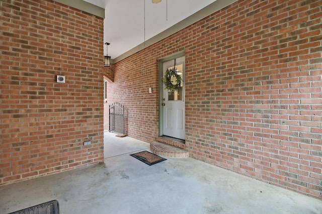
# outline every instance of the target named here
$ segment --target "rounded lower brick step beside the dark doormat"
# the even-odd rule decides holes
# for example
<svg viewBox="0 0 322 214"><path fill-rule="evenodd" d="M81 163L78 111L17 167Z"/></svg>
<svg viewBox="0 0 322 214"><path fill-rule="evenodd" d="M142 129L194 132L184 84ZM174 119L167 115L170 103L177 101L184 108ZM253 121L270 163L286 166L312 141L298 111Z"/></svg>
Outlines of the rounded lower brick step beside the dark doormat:
<svg viewBox="0 0 322 214"><path fill-rule="evenodd" d="M162 157L185 158L189 157L189 152L161 142L150 144L151 152Z"/></svg>

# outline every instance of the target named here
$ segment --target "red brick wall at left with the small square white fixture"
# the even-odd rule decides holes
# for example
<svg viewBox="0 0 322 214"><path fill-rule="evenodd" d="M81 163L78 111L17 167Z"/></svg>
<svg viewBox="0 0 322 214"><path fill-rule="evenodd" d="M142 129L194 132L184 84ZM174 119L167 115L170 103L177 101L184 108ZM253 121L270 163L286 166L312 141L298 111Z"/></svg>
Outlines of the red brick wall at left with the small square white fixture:
<svg viewBox="0 0 322 214"><path fill-rule="evenodd" d="M103 161L103 19L46 0L0 8L1 184Z"/></svg>

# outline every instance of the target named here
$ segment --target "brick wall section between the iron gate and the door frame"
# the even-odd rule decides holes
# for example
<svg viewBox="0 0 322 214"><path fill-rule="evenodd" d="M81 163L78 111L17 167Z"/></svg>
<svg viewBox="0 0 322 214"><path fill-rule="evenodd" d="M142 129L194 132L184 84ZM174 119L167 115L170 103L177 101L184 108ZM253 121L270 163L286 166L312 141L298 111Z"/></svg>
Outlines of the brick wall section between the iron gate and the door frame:
<svg viewBox="0 0 322 214"><path fill-rule="evenodd" d="M157 61L156 56L149 56L152 47L135 55L137 59L129 57L117 63L114 82L108 82L107 104L124 105L125 134L146 142L158 135Z"/></svg>

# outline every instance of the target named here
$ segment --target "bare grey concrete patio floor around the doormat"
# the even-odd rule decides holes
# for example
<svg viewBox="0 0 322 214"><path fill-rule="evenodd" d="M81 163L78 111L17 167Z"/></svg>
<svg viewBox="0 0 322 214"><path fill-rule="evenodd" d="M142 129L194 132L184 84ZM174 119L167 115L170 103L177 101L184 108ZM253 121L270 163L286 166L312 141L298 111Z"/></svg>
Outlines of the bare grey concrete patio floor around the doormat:
<svg viewBox="0 0 322 214"><path fill-rule="evenodd" d="M148 166L149 144L105 132L104 163L0 187L0 213L57 199L60 213L322 213L322 200L193 158Z"/></svg>

